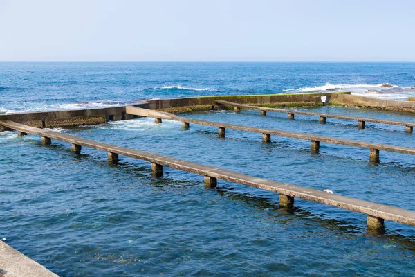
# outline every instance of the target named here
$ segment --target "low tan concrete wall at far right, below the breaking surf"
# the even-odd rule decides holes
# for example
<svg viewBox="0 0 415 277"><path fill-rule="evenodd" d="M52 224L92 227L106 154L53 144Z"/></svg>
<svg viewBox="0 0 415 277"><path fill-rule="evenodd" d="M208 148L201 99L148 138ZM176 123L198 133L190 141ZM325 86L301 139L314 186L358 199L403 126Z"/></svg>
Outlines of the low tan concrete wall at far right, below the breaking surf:
<svg viewBox="0 0 415 277"><path fill-rule="evenodd" d="M333 93L330 102L348 106L375 107L379 109L388 109L391 111L415 112L415 102L411 101L387 100L365 96Z"/></svg>

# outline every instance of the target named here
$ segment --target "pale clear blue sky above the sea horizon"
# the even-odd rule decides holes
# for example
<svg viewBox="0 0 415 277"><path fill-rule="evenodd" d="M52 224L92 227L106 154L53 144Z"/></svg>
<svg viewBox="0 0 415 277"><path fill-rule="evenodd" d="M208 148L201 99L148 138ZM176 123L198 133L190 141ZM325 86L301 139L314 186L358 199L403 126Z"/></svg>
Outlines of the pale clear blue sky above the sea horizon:
<svg viewBox="0 0 415 277"><path fill-rule="evenodd" d="M0 0L0 60L414 61L414 0Z"/></svg>

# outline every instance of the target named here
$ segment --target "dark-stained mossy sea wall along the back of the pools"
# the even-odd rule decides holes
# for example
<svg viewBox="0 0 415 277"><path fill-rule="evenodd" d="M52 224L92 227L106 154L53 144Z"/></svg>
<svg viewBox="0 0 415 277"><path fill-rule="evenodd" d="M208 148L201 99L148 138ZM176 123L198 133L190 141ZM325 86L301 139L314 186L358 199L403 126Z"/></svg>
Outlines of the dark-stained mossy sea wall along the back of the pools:
<svg viewBox="0 0 415 277"><path fill-rule="evenodd" d="M197 107L199 110L209 110L215 105L216 99L227 99L236 102L252 104L269 104L295 102L298 105L310 103L321 104L321 96L331 97L333 93L304 93L304 94L275 94L265 96L207 96L174 99L145 100L133 104L134 107L145 109L177 109L178 112L187 111L187 107ZM128 106L128 105L127 105ZM133 116L125 112L126 106L105 107L97 109L70 109L59 111L36 111L18 114L0 115L0 120L11 120L24 125L50 128L73 127L79 125L96 125L108 121L132 119ZM4 127L0 127L0 132Z"/></svg>

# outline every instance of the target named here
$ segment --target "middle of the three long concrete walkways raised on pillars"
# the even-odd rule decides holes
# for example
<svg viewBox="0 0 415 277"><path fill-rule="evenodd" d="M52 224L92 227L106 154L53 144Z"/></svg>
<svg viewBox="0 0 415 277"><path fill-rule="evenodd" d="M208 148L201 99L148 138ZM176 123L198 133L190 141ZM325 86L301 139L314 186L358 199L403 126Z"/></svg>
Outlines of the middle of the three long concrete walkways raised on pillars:
<svg viewBox="0 0 415 277"><path fill-rule="evenodd" d="M130 112L135 112L137 110L140 110L141 108L136 109L130 109ZM141 113L141 111L140 111ZM160 115L158 115L160 116ZM405 148L402 146L395 146L395 145L387 145L382 143L369 143L366 141L355 141L351 139L338 139L333 138L331 136L319 136L314 134L302 134L302 133L295 133L295 132L286 132L281 131L277 129L266 129L266 128L257 128L257 127L249 127L249 126L241 126L241 125L234 125L229 123L219 123L219 122L212 122L207 120L197 120L192 118L183 118L183 117L172 117L172 116L164 116L164 119L167 120L174 120L179 122L186 122L186 123L194 123L199 125L207 125L212 127L219 127L219 137L224 137L225 135L225 129L237 129L240 131L246 131L246 132L254 132L254 133L261 133L261 134L270 134L270 135L276 135L276 136L286 136L289 138L294 139L304 139L307 141L319 141L319 142L325 142L325 143L333 143L333 144L341 144L341 145L349 145L349 146L355 146L359 148L369 148L374 150L383 150L388 152L396 152L396 153L402 153L402 154L411 154L415 155L415 148ZM7 127L7 125L6 125ZM320 143L319 143L320 145Z"/></svg>

